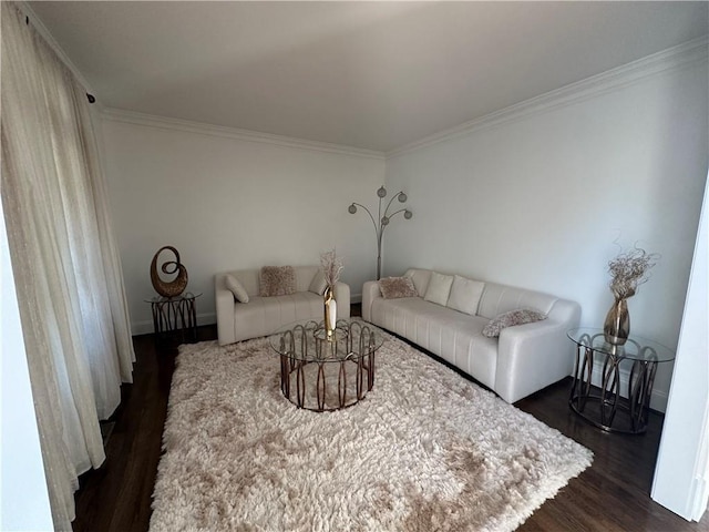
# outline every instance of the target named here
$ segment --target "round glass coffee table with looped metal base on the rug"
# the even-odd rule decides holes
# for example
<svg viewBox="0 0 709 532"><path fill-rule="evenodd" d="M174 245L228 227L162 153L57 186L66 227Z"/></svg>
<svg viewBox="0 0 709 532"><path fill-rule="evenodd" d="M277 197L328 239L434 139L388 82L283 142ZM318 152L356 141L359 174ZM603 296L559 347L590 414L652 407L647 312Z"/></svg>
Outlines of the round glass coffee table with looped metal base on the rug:
<svg viewBox="0 0 709 532"><path fill-rule="evenodd" d="M298 321L269 337L280 355L280 390L317 412L351 407L374 386L374 354L384 338L371 324L338 319L332 340L322 321Z"/></svg>

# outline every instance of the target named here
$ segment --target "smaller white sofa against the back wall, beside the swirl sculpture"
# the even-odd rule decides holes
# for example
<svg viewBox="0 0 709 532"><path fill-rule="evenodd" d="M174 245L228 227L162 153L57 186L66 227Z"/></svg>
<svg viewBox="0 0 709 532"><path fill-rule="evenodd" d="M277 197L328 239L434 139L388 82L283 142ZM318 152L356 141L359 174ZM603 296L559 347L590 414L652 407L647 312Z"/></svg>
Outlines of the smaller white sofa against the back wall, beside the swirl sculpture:
<svg viewBox="0 0 709 532"><path fill-rule="evenodd" d="M323 318L321 294L310 291L320 270L319 266L296 266L296 293L287 296L260 297L260 269L224 272L214 279L217 307L217 335L219 345L258 338L279 327L305 319ZM248 294L248 303L239 303L227 288L227 275L234 276ZM345 283L335 286L338 318L350 316L350 287Z"/></svg>

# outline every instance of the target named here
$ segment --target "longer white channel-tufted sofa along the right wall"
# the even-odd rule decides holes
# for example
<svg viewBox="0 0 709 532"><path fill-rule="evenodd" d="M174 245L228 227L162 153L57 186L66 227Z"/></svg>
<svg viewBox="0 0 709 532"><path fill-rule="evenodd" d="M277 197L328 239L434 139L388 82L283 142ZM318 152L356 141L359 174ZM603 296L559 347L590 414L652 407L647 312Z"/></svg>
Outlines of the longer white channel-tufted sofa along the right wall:
<svg viewBox="0 0 709 532"><path fill-rule="evenodd" d="M425 295L432 272L410 269L415 290ZM499 338L483 336L496 316L535 308L547 319L507 327ZM512 403L573 371L574 347L566 331L577 327L577 303L511 286L485 283L474 315L419 297L384 299L378 282L362 290L362 318L388 329L482 382Z"/></svg>

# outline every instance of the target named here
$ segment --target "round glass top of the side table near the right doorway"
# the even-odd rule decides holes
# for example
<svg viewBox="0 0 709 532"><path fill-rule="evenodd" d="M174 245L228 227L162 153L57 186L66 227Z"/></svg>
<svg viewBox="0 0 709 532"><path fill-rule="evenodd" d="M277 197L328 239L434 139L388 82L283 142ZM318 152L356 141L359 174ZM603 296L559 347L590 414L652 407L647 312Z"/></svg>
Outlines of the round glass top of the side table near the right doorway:
<svg viewBox="0 0 709 532"><path fill-rule="evenodd" d="M579 327L569 330L566 335L578 346L616 358L655 362L667 362L675 359L675 351L670 348L640 336L630 336L623 346L614 346L606 341L603 329L598 328Z"/></svg>

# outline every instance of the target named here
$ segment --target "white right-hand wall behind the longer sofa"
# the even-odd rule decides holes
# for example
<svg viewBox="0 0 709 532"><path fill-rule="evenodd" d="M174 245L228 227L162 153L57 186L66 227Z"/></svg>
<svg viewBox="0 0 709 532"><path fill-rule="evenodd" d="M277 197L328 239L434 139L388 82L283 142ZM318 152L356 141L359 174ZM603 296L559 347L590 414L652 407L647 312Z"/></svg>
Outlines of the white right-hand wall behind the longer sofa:
<svg viewBox="0 0 709 532"><path fill-rule="evenodd" d="M629 71L390 157L387 184L414 217L388 229L386 275L415 266L540 289L599 327L614 241L638 242L661 260L629 300L631 334L676 348L707 176L706 51ZM670 375L660 365L654 408Z"/></svg>

